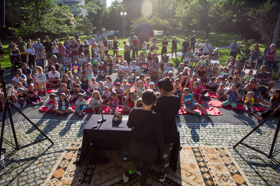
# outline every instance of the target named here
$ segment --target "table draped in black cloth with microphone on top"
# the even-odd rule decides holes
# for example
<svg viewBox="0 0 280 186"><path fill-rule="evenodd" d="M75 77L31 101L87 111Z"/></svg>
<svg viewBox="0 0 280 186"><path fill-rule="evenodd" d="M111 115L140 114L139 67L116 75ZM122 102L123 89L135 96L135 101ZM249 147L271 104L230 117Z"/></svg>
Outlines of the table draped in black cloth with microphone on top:
<svg viewBox="0 0 280 186"><path fill-rule="evenodd" d="M113 122L114 115L105 115L106 122L97 124L101 119L101 115L92 114L88 124L84 128L83 142L80 158L77 161L82 162L87 153L90 152L90 143L94 149L120 149L124 141L130 141L132 132L128 128L127 121L121 123ZM92 129L92 126L97 128Z"/></svg>

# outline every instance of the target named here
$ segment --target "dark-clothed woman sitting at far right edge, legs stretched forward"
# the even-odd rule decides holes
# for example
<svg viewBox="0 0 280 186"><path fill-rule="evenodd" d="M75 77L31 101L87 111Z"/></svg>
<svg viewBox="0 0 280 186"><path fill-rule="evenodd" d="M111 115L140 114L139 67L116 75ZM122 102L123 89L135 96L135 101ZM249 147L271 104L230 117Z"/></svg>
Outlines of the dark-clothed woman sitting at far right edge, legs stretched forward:
<svg viewBox="0 0 280 186"><path fill-rule="evenodd" d="M265 118L267 118L275 109L278 109L280 107L280 89L275 89L273 91L273 95L270 98L270 105L269 109L265 112L262 112L261 114L254 114L254 116L257 118L257 120L262 121ZM274 116L279 116L280 111L278 111Z"/></svg>

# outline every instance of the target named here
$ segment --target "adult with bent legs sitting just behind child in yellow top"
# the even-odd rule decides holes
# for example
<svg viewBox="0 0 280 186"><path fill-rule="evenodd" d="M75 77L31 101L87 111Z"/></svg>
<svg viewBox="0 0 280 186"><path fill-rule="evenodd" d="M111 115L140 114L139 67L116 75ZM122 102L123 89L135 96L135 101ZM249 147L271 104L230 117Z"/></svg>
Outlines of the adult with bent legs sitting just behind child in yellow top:
<svg viewBox="0 0 280 186"><path fill-rule="evenodd" d="M261 102L264 105L269 105L269 102L264 100L262 97L262 94L258 89L255 88L256 85L256 79L251 78L249 81L249 84L245 85L244 87L244 97L247 95L248 92L254 93L254 105L258 106L259 102Z"/></svg>

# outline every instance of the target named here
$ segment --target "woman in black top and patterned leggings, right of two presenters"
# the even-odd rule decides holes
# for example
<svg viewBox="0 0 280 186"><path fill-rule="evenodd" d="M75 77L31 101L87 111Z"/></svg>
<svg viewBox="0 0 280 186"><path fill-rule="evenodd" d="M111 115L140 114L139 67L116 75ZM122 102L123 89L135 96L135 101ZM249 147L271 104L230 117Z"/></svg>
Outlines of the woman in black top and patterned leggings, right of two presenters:
<svg viewBox="0 0 280 186"><path fill-rule="evenodd" d="M166 177L166 168L169 166L169 156L173 144L178 141L178 131L175 117L181 107L179 96L172 95L174 87L169 78L158 81L158 91L161 97L157 98L157 105L154 111L159 113L162 118L162 133L164 138L164 154L161 159L159 181L163 182Z"/></svg>

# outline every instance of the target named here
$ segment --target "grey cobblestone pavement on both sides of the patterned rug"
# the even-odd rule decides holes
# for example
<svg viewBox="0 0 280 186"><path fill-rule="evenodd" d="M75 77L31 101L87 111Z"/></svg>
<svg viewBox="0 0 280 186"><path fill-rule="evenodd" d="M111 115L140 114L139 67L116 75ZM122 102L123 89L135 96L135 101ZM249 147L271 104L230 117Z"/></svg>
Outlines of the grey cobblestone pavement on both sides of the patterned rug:
<svg viewBox="0 0 280 186"><path fill-rule="evenodd" d="M87 118L88 120L89 118ZM83 128L87 121L60 121L60 120L33 120L33 122L54 141L45 140L30 147L17 151L5 163L5 168L0 171L0 186L40 186L44 183L48 174L52 171L59 157L66 149L70 141L82 142ZM178 123L181 145L223 145L226 146L246 176L255 186L276 186L280 173L277 166L269 162L263 155L249 150L243 145L232 146L241 140L252 126L236 124L184 124ZM20 145L42 139L43 136L28 122L20 122L16 126L18 142ZM5 136L10 140L7 126ZM274 136L274 129L260 127L245 142L265 152L269 151ZM13 137L11 137L13 138ZM10 140L11 141L11 140ZM280 140L276 149L280 149ZM7 151L11 149L4 144ZM247 156L258 155L262 159L253 159L259 162L254 165ZM280 161L280 155L276 156Z"/></svg>

